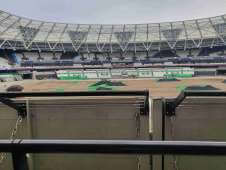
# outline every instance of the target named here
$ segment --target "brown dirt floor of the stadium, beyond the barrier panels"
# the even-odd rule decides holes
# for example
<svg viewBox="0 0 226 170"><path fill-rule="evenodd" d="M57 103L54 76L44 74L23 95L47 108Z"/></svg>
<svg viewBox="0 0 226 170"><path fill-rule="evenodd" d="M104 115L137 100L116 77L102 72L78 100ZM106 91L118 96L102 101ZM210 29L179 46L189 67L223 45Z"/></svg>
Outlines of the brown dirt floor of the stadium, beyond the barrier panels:
<svg viewBox="0 0 226 170"><path fill-rule="evenodd" d="M158 82L151 79L130 79L130 80L112 80L121 81L126 86L114 87L114 90L144 90L148 89L152 97L176 97L181 90L188 86L206 86L211 85L220 90L226 91L226 83L223 81L226 77L196 77L189 79L180 79L175 82ZM40 91L87 91L89 86L98 82L98 80L83 80L83 81L62 81L62 80L26 80L21 82L4 83L0 88L19 84L24 87L25 92L40 92Z"/></svg>

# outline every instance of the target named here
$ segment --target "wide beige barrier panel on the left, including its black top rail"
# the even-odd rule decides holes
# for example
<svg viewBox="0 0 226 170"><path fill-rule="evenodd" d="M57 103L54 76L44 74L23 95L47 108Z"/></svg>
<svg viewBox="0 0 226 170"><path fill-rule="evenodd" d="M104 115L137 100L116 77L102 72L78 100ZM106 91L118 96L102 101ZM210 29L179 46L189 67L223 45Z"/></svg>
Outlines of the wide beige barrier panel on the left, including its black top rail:
<svg viewBox="0 0 226 170"><path fill-rule="evenodd" d="M12 100L14 97L30 99ZM1 93L4 104L18 110L22 119L16 139L149 140L148 91ZM8 98L12 98L8 100ZM17 102L23 105L18 105ZM17 112L1 105L0 137L8 139L17 122ZM15 140L13 140L15 141ZM1 150L1 149L0 149ZM19 158L18 158L19 157ZM14 160L21 160L13 155ZM140 155L30 154L35 170L56 169L150 169L150 157ZM0 169L12 168L11 157ZM30 168L32 169L32 168Z"/></svg>

